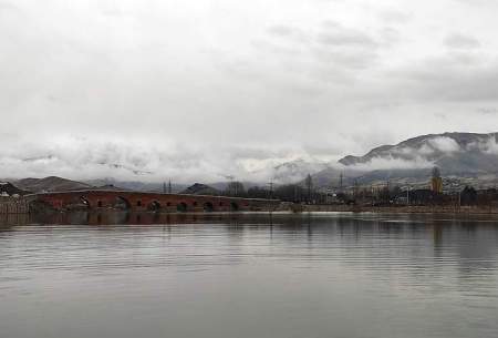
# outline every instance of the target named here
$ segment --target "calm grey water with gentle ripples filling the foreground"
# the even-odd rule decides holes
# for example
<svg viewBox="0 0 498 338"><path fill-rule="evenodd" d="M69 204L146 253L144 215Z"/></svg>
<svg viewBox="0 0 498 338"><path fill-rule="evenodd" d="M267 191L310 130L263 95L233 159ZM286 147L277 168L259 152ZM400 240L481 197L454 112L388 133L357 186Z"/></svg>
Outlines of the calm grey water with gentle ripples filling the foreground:
<svg viewBox="0 0 498 338"><path fill-rule="evenodd" d="M498 337L498 221L0 217L0 337Z"/></svg>

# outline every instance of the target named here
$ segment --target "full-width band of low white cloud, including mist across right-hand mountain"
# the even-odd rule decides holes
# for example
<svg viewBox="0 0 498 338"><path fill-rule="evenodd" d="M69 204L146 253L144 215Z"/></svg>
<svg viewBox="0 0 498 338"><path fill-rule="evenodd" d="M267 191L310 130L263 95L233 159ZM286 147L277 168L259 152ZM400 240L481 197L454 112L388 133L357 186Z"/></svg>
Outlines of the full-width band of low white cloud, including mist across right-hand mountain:
<svg viewBox="0 0 498 338"><path fill-rule="evenodd" d="M23 178L50 175L72 180L115 178L118 181L175 183L238 180L266 184L293 183L322 170L370 172L378 170L421 170L437 165L443 157L466 153L498 155L495 135L484 135L468 143L449 136L434 136L390 148L380 148L367 158L344 166L305 151L272 151L262 147L187 146L165 140L124 140L58 136L41 142L3 143L0 177ZM464 157L463 157L464 158ZM338 174L339 175L339 174Z"/></svg>

